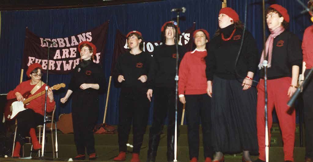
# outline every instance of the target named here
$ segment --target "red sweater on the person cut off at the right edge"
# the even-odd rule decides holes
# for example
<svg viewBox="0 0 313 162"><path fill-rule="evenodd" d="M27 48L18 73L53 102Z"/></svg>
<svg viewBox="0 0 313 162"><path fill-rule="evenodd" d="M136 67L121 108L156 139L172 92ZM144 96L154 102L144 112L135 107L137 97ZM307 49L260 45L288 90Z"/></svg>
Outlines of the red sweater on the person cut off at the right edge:
<svg viewBox="0 0 313 162"><path fill-rule="evenodd" d="M302 41L303 62L305 62L306 69L313 67L313 25L307 27L304 31Z"/></svg>

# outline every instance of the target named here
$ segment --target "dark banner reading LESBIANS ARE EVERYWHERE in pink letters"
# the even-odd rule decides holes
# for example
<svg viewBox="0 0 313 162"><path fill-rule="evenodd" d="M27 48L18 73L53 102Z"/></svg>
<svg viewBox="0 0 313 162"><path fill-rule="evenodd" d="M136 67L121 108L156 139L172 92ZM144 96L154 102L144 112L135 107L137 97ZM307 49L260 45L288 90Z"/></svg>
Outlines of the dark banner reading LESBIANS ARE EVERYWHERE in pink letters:
<svg viewBox="0 0 313 162"><path fill-rule="evenodd" d="M80 62L78 45L82 41L89 41L97 47L94 57L95 63L102 62L109 21L78 35L65 38L43 38L36 36L26 28L25 46L22 60L22 69L27 69L30 64L39 63L45 71L48 68L48 42L44 39L56 42L49 49L49 72L52 74L68 74ZM102 55L103 54L103 55Z"/></svg>

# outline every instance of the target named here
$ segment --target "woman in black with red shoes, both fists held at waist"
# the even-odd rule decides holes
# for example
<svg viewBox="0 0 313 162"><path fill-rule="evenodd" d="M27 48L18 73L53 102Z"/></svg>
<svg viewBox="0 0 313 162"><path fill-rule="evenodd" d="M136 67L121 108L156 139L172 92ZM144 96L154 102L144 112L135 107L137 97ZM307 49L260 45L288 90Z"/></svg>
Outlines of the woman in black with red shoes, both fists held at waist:
<svg viewBox="0 0 313 162"><path fill-rule="evenodd" d="M114 158L114 161L125 161L126 159L126 143L132 124L134 147L131 162L140 162L139 153L150 108L146 92L151 55L142 51L143 38L139 31L131 31L126 37L131 50L120 56L113 70L115 86L121 87L118 125L120 153Z"/></svg>

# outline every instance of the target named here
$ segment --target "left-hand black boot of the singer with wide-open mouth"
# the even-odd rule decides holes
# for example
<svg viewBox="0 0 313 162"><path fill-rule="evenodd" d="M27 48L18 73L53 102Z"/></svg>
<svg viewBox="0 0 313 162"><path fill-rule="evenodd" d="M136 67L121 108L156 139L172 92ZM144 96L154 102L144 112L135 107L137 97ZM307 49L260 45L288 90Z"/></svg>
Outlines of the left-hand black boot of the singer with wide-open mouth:
<svg viewBox="0 0 313 162"><path fill-rule="evenodd" d="M159 146L160 135L153 135L151 132L149 133L149 149L147 162L155 162L156 161L156 152L157 147Z"/></svg>

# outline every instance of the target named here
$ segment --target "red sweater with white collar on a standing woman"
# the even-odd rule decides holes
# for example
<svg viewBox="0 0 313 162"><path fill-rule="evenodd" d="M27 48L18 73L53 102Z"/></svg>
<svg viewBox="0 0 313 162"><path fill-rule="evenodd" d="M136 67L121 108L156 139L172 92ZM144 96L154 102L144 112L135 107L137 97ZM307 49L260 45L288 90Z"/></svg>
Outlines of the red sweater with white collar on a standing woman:
<svg viewBox="0 0 313 162"><path fill-rule="evenodd" d="M179 66L178 94L207 93L207 77L205 60L207 51L187 52Z"/></svg>

